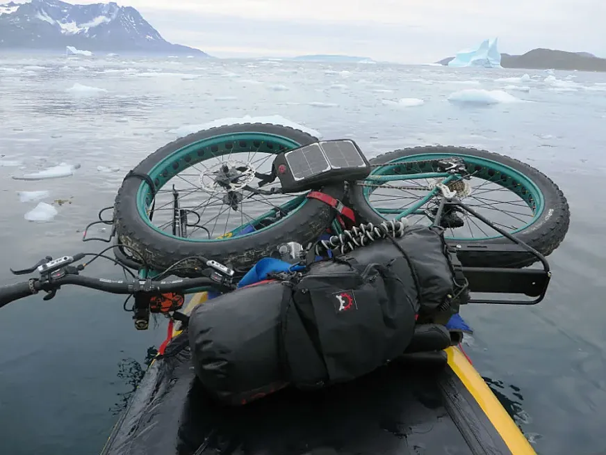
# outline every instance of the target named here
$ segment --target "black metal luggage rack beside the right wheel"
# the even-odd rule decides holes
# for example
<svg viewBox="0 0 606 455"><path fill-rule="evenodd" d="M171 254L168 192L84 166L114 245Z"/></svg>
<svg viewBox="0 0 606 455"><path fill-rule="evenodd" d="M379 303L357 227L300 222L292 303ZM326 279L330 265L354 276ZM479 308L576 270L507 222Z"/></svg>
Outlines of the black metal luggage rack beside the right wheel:
<svg viewBox="0 0 606 455"><path fill-rule="evenodd" d="M526 251L541 262L542 269L515 269L513 267L462 267L463 275L468 281L470 292L481 292L489 294L524 294L529 297L535 297L534 300L503 300L497 298L471 298L467 303L491 303L497 305L537 305L545 298L547 287L551 279L551 271L546 258L537 250L525 244L520 239L502 230L492 223L488 218L478 214L468 205L465 205L459 198L452 194L443 195L434 218L433 225L440 226L441 217L450 207L459 207L469 214L475 216L489 227L492 227L499 234L513 242L512 244L491 245L491 244L455 244L458 251L490 251L492 253L507 253L511 251Z"/></svg>

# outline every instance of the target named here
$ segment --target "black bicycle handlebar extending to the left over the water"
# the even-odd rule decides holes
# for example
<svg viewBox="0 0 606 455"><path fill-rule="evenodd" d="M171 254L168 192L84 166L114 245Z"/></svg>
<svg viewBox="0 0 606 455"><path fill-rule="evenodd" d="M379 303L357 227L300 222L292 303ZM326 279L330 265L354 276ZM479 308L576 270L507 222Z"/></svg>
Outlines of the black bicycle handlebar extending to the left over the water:
<svg viewBox="0 0 606 455"><path fill-rule="evenodd" d="M68 274L50 281L31 278L25 282L2 286L0 287L0 308L19 298L37 294L39 291L56 291L63 285L88 287L111 294L135 294L137 292L163 294L165 292L186 291L196 287L221 287L217 281L211 278L186 278L154 282L152 280L106 280L104 278Z"/></svg>

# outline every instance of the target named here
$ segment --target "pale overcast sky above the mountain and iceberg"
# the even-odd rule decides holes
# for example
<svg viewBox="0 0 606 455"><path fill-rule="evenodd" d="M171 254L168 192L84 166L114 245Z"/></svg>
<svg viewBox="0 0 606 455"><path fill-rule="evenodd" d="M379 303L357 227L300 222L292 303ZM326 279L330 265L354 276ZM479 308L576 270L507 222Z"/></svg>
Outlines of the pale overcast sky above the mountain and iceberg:
<svg viewBox="0 0 606 455"><path fill-rule="evenodd" d="M166 40L218 57L348 54L427 63L493 37L499 38L500 51L509 54L550 47L606 57L606 0L117 3L137 8Z"/></svg>

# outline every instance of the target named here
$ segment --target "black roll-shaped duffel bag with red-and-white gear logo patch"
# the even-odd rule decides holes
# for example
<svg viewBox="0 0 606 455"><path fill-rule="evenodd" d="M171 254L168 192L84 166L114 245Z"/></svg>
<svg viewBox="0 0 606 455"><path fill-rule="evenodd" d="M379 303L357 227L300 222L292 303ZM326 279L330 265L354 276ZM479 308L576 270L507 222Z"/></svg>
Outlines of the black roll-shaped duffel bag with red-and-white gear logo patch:
<svg viewBox="0 0 606 455"><path fill-rule="evenodd" d="M416 319L447 321L458 311L450 254L441 230L428 227L279 278L190 316L195 372L220 401L351 381L401 356Z"/></svg>

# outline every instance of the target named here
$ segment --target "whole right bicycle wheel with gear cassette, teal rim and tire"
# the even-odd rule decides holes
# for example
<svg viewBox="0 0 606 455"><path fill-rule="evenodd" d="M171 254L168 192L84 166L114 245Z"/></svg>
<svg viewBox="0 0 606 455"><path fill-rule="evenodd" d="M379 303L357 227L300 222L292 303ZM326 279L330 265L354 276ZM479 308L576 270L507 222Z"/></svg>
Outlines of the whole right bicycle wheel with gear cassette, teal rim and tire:
<svg viewBox="0 0 606 455"><path fill-rule="evenodd" d="M429 162L449 157L464 160L471 175L469 180L454 177L447 181L448 174L436 173L435 166ZM424 160L425 163L416 163ZM394 150L371 159L370 163L385 166L375 168L364 182L352 183L349 194L350 205L363 221L381 223L385 219L407 216L412 224L429 225L440 201L439 196L429 191L436 183L447 182L446 186L457 191L462 202L543 255L552 253L568 231L570 211L562 191L539 170L516 159L474 148L428 146ZM383 180L373 181L375 176ZM408 188L398 189L404 185ZM413 186L418 190L412 190ZM402 204L402 196L407 205ZM464 211L445 214L442 219L449 243L512 244ZM459 251L459 259L464 266L486 267L523 267L537 262L536 257L523 251L466 248Z"/></svg>

